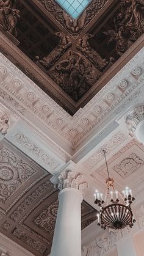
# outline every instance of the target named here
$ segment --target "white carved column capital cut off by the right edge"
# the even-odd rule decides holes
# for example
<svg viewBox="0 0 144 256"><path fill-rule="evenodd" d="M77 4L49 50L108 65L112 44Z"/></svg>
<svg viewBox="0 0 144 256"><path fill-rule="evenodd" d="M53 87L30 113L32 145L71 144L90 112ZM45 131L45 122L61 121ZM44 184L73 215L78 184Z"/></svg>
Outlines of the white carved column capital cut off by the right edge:
<svg viewBox="0 0 144 256"><path fill-rule="evenodd" d="M129 111L126 117L126 126L131 136L136 136L140 142L144 142L140 139L141 126L144 128L144 104L135 106ZM144 138L144 136L143 136Z"/></svg>

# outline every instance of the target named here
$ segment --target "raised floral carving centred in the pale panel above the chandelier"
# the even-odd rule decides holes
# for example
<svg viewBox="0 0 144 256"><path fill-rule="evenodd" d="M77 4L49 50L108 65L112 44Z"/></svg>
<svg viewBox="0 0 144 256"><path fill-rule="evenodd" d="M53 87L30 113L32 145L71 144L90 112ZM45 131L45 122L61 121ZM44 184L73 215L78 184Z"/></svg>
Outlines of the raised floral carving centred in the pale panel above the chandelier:
<svg viewBox="0 0 144 256"><path fill-rule="evenodd" d="M144 161L139 158L135 153L132 153L128 158L123 159L120 164L114 166L115 172L121 175L121 177L126 178L135 172L140 166L144 164Z"/></svg>

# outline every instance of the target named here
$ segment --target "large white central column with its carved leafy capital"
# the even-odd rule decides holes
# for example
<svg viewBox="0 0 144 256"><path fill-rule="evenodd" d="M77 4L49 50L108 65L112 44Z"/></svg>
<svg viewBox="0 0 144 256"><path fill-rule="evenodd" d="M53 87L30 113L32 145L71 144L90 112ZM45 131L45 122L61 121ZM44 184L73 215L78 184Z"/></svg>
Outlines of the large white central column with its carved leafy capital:
<svg viewBox="0 0 144 256"><path fill-rule="evenodd" d="M81 174L65 172L57 178L59 210L52 241L51 256L81 256L82 188L87 187Z"/></svg>

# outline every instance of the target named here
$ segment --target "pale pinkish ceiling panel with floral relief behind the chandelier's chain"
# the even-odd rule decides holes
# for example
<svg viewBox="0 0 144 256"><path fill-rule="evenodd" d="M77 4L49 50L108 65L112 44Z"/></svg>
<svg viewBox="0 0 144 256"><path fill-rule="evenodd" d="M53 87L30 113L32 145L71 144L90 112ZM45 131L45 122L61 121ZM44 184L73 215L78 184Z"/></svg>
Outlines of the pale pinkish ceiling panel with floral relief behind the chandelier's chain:
<svg viewBox="0 0 144 256"><path fill-rule="evenodd" d="M138 174L139 177L142 176L141 167L144 164L143 152L143 144L133 139L118 150L117 153L114 153L111 158L107 159L110 174L121 183L121 186L123 186L123 179L131 178L131 175L134 175L134 177ZM91 175L92 177L96 177L96 174L106 178L106 165L102 164ZM133 182L131 181L131 183Z"/></svg>

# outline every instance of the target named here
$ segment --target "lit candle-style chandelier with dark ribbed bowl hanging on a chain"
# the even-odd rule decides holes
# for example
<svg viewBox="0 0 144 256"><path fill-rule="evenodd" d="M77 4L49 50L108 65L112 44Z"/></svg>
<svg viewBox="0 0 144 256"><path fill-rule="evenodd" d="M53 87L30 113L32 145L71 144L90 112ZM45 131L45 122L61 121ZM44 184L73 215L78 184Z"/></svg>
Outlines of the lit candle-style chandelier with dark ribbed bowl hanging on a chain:
<svg viewBox="0 0 144 256"><path fill-rule="evenodd" d="M135 222L131 210L131 203L135 200L132 197L132 191L127 187L123 194L121 194L115 189L115 181L113 178L110 178L107 166L107 150L104 148L101 151L106 161L108 178L106 180L107 191L105 198L103 199L103 194L100 194L97 190L94 194L95 204L100 208L99 214L97 214L98 225L102 229L106 229L106 227L110 229L124 229L128 225L132 227Z"/></svg>

